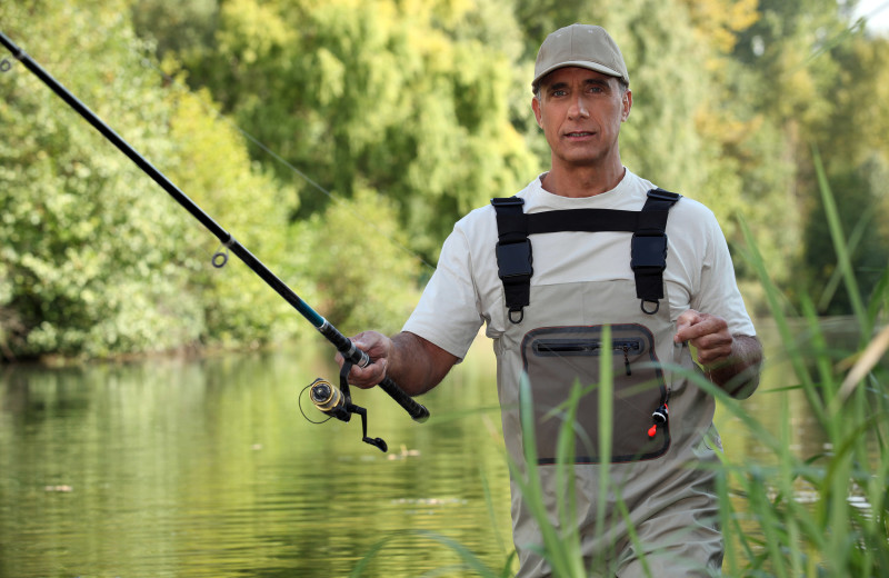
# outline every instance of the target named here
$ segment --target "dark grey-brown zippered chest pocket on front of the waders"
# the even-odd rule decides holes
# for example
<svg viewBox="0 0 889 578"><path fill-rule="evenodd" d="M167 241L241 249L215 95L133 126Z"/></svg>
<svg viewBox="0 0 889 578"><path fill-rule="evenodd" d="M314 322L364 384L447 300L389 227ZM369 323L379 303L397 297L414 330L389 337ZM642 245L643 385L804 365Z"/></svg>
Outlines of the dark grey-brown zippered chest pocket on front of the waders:
<svg viewBox="0 0 889 578"><path fill-rule="evenodd" d="M641 325L610 327L608 342L602 340L602 326L548 327L525 336L522 365L533 396L539 464L556 462L576 382L583 391L573 423L576 464L600 464L606 442L612 464L655 459L669 449L668 393L656 365L655 338ZM599 403L602 356L611 358L613 376L610 436L601 436L599 427L600 413L608 410Z"/></svg>

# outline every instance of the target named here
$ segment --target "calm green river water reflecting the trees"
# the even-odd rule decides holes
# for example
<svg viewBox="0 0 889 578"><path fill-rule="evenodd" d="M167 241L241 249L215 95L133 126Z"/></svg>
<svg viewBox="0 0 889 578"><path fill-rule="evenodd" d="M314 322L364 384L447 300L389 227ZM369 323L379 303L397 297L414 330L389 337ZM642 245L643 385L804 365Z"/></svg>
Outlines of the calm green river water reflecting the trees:
<svg viewBox="0 0 889 578"><path fill-rule="evenodd" d="M348 576L382 539L367 576L416 577L458 562L417 530L501 568L512 545L490 346L479 340L423 398L427 423L382 391L353 392L368 409L368 435L383 438L388 454L361 442L357 417L312 425L301 416L298 393L337 375L330 357L322 348L3 368L0 578L329 578ZM776 403L765 392L791 385L791 375L772 357L763 391L745 407L779 431L787 405L793 451L828 451L801 393ZM308 399L302 407L316 411ZM736 418L719 411L717 423L733 457L773 459Z"/></svg>

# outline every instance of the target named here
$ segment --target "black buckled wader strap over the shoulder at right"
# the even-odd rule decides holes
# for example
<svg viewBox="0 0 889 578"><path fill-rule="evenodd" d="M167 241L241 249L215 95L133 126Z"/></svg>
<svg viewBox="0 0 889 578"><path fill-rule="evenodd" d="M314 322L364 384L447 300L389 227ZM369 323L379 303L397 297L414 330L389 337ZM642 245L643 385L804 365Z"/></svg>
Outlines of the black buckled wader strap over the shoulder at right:
<svg viewBox="0 0 889 578"><path fill-rule="evenodd" d="M680 195L663 189L648 191L639 222L630 242L630 268L636 276L636 297L642 311L655 315L663 299L663 270L667 268L667 217ZM646 309L646 303L655 303Z"/></svg>

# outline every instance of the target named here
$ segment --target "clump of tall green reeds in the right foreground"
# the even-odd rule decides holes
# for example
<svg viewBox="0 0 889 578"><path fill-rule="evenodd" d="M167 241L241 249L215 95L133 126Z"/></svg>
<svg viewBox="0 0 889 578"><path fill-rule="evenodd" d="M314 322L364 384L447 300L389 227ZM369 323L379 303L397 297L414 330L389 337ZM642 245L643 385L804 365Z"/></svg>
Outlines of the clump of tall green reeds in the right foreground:
<svg viewBox="0 0 889 578"><path fill-rule="evenodd" d="M766 289L780 335L780 346L768 357L787 362L787 381L791 385L758 392L773 398L782 411L781 427L769 431L712 383L697 380L749 428L765 456L757 464L739 464L728 455L721 456L719 494L728 576L849 577L889 572L889 399L887 369L878 363L889 347L889 328L877 331L878 316L886 312L889 268L866 303L817 151L815 161L837 268L851 296L858 343L851 355L831 345L817 317L815 301L806 295L800 311L793 315L803 320L803 330L795 329L786 302L742 222L747 259ZM825 439L823 449L812 455L791 450L795 432L789 395L793 391L802 392L806 410ZM732 498L743 502L742 510L736 508Z"/></svg>

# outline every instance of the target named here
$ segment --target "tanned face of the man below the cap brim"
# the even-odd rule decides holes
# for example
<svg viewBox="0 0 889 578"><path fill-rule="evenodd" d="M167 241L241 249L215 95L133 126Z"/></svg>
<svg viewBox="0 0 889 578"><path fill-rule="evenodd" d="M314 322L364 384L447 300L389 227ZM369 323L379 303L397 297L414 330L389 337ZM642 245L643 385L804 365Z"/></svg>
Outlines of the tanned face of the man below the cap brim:
<svg viewBox="0 0 889 578"><path fill-rule="evenodd" d="M531 107L557 165L605 167L620 162L618 134L632 107L632 93L615 77L566 67L540 82Z"/></svg>

